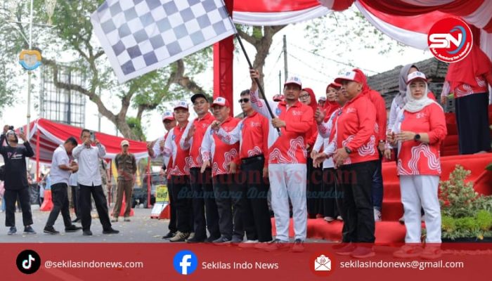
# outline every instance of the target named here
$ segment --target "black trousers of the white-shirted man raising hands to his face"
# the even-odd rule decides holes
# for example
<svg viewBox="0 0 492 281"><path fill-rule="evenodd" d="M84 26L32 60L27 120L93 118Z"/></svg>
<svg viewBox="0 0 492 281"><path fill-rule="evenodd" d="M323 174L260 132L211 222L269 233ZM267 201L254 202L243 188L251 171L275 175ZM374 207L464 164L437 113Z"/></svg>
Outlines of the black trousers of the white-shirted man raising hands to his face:
<svg viewBox="0 0 492 281"><path fill-rule="evenodd" d="M79 184L79 207L80 214L82 215L82 230L91 229L91 195L94 198L96 209L99 215L99 221L103 225L103 230L110 230L110 216L108 214L108 204L106 204L106 197L104 196L103 187L101 185L81 185Z"/></svg>

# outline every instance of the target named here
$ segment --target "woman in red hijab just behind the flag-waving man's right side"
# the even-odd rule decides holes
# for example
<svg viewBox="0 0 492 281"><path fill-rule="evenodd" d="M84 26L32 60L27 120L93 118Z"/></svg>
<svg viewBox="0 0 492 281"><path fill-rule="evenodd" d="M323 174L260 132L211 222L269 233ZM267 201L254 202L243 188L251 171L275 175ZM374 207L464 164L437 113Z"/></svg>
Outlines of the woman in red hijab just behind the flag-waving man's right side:
<svg viewBox="0 0 492 281"><path fill-rule="evenodd" d="M310 88L304 88L299 96L301 103L309 105L313 108L313 112L318 109L318 103L316 102L316 96ZM313 149L314 142L318 136L318 128L316 126L311 127L311 131L306 133L306 149L308 153L307 165L307 183L306 183L306 195L307 195L307 210L310 218L316 218L316 214L321 211L321 199L319 193L321 192L321 184L323 182L323 171L321 168L313 167L313 158L311 158L311 150Z"/></svg>

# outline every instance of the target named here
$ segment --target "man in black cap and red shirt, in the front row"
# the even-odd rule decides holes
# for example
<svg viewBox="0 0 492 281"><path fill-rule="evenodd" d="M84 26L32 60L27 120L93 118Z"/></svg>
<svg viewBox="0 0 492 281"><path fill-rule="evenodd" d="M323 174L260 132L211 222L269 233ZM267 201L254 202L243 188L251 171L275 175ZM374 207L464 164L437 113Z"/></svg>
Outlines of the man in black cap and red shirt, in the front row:
<svg viewBox="0 0 492 281"><path fill-rule="evenodd" d="M203 164L201 146L205 131L214 121L214 117L209 112L210 104L207 96L203 93L195 93L191 96L193 109L198 115L193 122L188 123L183 132L179 145L183 150L190 150L190 186L193 191L193 220L195 237L186 240L188 243L212 242L218 239L221 234L219 231L219 213L215 203L214 191L212 187L212 169L205 169L200 173ZM205 208L204 208L205 205ZM205 209L205 213L204 213ZM205 218L207 220L205 221ZM209 237L207 239L207 231Z"/></svg>

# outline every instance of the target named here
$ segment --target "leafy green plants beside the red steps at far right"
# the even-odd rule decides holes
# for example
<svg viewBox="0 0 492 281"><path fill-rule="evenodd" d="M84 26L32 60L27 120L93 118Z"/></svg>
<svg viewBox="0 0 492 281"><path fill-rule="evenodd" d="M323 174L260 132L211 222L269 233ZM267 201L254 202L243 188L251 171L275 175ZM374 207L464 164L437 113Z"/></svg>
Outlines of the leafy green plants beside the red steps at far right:
<svg viewBox="0 0 492 281"><path fill-rule="evenodd" d="M439 185L443 242L492 242L492 196L479 195L465 183L470 171L456 165Z"/></svg>

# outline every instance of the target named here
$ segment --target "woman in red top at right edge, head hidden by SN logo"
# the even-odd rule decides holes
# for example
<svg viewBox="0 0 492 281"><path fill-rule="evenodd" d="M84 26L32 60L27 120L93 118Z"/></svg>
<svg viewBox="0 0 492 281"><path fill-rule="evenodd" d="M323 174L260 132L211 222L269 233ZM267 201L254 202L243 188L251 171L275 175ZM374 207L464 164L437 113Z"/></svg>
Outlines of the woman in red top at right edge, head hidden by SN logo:
<svg viewBox="0 0 492 281"><path fill-rule="evenodd" d="M450 63L441 103L454 93L460 154L491 150L488 129L488 85L492 85L492 63L479 46L457 63Z"/></svg>

